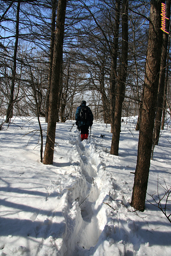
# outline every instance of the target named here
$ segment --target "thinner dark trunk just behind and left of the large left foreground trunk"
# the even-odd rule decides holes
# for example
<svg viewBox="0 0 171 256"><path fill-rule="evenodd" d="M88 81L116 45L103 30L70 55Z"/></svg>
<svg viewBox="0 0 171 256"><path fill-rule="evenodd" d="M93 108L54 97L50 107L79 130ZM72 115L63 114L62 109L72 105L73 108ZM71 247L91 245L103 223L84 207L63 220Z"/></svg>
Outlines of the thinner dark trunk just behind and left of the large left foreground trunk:
<svg viewBox="0 0 171 256"><path fill-rule="evenodd" d="M52 23L51 23L51 35L50 35L49 73L48 73L48 86L47 86L47 93L46 93L46 108L45 108L46 122L48 121L49 95L50 95L50 85L51 85L51 78L52 78L53 49L54 49L54 43L55 43L56 8L57 8L57 0L52 0Z"/></svg>

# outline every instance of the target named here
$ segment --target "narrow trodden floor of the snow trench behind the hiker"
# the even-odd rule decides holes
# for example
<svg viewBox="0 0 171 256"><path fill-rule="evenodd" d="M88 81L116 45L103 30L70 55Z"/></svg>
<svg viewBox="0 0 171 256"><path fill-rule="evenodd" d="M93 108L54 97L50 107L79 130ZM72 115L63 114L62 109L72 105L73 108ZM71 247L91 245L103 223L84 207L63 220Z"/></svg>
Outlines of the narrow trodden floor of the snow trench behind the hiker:
<svg viewBox="0 0 171 256"><path fill-rule="evenodd" d="M101 233L98 219L93 212L93 206L99 197L99 189L94 181L98 173L94 158L95 151L88 141L79 142L78 153L82 160L80 163L82 173L85 175L87 181L88 196L79 204L83 220L78 233L77 246L83 249L89 249L97 243ZM87 239L87 237L89 237L89 239Z"/></svg>

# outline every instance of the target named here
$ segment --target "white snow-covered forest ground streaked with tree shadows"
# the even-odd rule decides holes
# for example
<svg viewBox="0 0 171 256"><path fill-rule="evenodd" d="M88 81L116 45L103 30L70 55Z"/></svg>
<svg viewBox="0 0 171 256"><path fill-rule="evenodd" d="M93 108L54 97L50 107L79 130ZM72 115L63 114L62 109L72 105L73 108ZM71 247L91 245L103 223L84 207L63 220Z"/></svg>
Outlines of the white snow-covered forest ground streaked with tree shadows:
<svg viewBox="0 0 171 256"><path fill-rule="evenodd" d="M80 141L75 126L69 131L71 121L57 123L53 165L40 163L37 119L11 122L0 131L0 256L171 255L171 223L148 195L158 190L162 197L171 186L169 127L154 150L141 213L129 205L137 162L135 118L122 122L119 156L109 154L109 125L93 124L89 143Z"/></svg>

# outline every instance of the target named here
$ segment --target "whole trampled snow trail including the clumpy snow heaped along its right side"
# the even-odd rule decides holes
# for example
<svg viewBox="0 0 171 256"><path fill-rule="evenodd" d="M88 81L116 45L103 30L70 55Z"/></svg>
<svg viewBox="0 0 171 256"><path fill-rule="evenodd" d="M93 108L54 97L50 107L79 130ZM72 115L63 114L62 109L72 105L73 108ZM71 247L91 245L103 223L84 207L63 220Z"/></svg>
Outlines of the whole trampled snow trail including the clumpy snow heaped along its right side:
<svg viewBox="0 0 171 256"><path fill-rule="evenodd" d="M80 141L76 134L68 142L73 145L73 155L76 157L72 159L71 155L70 161L75 171L79 172L82 183L75 194L75 201L71 200L73 193L68 193L68 207L63 211L67 225L65 256L101 255L104 248L124 256L125 252L133 251L122 244L122 237L129 237L129 231L125 232L128 227L123 226L119 218L120 211L127 211L127 200L122 190L124 184L118 185L117 177L108 172L108 168L111 168L105 161L108 153L104 147L99 147L98 138L93 134L91 143L89 140ZM113 158L109 154L108 157ZM119 161L119 157L116 157L116 170ZM116 242L115 238L119 241Z"/></svg>

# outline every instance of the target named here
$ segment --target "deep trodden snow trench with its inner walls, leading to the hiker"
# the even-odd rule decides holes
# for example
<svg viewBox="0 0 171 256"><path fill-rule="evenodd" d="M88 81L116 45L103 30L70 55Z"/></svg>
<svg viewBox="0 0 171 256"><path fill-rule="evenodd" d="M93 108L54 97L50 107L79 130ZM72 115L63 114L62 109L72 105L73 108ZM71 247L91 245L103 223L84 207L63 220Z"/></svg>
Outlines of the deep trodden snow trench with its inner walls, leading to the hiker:
<svg viewBox="0 0 171 256"><path fill-rule="evenodd" d="M66 255L86 255L89 250L93 249L98 243L99 236L105 227L105 218L103 216L102 201L105 197L100 193L102 184L101 175L105 170L102 157L96 149L96 145L89 140L80 141L79 136L69 141L73 145L74 156L72 159L75 169L79 171L84 182L80 186L75 202L71 202L68 194L68 202L70 202L70 213L65 209L63 215L66 214L66 221L69 215L72 216L70 223L67 223L67 235L65 238L66 247L68 248ZM98 177L99 176L99 177ZM112 184L113 186L113 184ZM77 203L76 203L77 202ZM77 216L73 220L73 208L77 208Z"/></svg>

